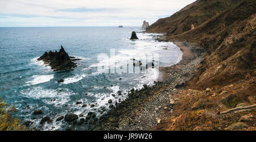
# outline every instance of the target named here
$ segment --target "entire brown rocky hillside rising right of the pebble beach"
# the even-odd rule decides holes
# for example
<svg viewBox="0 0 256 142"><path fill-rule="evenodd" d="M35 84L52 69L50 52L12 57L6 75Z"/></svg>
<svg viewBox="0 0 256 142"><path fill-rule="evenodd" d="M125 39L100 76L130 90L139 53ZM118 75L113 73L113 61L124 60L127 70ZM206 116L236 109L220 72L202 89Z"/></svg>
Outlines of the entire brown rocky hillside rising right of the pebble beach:
<svg viewBox="0 0 256 142"><path fill-rule="evenodd" d="M200 0L168 18L159 19L147 28L148 32L166 32L166 40L188 41L205 51L197 73L178 93L180 99L186 101L181 101L176 107L177 111L170 122L156 130L222 130L229 124L241 124L238 121L242 115L255 117L254 109L223 119L227 122L225 124L218 120L207 124L209 118L203 115L205 107L213 110L221 108L224 111L240 103L255 104L255 27L254 0ZM196 95L189 95L189 92ZM194 106L199 107L192 109ZM254 130L255 123L250 120L245 124ZM202 124L205 121L204 127L200 127L200 121ZM239 127L238 130L243 128L247 126Z"/></svg>

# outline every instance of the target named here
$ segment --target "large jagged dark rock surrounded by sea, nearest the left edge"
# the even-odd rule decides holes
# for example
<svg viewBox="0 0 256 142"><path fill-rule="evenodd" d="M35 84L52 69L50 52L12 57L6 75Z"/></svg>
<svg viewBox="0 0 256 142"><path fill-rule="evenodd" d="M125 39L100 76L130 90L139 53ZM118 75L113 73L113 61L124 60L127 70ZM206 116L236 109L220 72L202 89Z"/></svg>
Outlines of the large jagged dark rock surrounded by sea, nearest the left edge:
<svg viewBox="0 0 256 142"><path fill-rule="evenodd" d="M39 57L38 61L43 60L45 64L49 64L54 71L59 70L69 70L71 68L75 68L77 65L74 59L75 57L68 56L68 53L65 52L64 48L61 45L60 51L52 52L49 51L48 53L45 52L43 56Z"/></svg>

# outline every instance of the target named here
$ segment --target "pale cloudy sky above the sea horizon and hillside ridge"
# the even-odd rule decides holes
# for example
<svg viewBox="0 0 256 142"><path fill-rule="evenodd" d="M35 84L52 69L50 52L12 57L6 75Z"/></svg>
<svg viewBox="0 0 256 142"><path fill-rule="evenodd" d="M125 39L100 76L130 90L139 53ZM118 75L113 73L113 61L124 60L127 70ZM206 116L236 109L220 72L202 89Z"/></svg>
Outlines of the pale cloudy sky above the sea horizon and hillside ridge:
<svg viewBox="0 0 256 142"><path fill-rule="evenodd" d="M142 26L195 0L0 0L0 27Z"/></svg>

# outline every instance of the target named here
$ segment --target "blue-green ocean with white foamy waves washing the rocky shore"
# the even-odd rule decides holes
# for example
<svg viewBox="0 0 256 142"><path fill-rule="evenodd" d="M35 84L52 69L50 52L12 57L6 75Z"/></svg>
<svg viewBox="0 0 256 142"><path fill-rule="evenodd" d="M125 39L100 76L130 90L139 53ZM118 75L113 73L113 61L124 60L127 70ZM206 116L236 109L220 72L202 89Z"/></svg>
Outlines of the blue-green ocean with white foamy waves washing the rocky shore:
<svg viewBox="0 0 256 142"><path fill-rule="evenodd" d="M137 32L139 40L129 40L132 31ZM157 65L170 66L181 60L182 52L175 44L158 42L156 37L160 34L142 31L140 27L0 28L0 98L15 105L15 117L22 122L31 121L31 128L41 130L72 126L64 120L56 122L65 114L82 113L85 117L88 112L96 112L99 117L109 110L109 99L115 105L127 97L130 89L153 85L159 76ZM37 61L44 52L59 51L61 45L69 56L82 59L75 61L78 66L74 70L53 72L43 61ZM114 57L110 57L113 49ZM148 68L146 73L99 70L109 62L114 62L109 69L117 69L133 59L141 59L141 66L146 66L142 55L158 55L155 68ZM58 83L60 79L64 82ZM92 104L95 106L90 107ZM99 111L102 107L106 111ZM43 114L33 115L35 110L42 110ZM49 116L52 123L40 125L44 116ZM72 127L86 130L88 126Z"/></svg>

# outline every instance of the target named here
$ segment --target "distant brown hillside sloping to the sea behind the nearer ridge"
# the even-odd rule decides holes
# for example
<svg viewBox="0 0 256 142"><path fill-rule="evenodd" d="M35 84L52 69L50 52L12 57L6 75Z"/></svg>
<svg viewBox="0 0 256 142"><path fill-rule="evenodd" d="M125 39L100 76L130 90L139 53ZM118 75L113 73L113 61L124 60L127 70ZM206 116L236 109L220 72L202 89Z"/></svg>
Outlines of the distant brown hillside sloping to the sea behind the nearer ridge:
<svg viewBox="0 0 256 142"><path fill-rule="evenodd" d="M240 2L241 0L199 0L184 7L174 15L159 19L147 28L148 32L168 32L171 35L181 34L204 23L214 15Z"/></svg>

